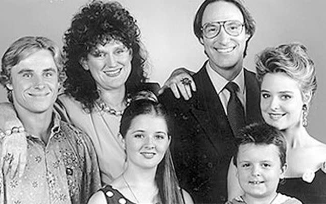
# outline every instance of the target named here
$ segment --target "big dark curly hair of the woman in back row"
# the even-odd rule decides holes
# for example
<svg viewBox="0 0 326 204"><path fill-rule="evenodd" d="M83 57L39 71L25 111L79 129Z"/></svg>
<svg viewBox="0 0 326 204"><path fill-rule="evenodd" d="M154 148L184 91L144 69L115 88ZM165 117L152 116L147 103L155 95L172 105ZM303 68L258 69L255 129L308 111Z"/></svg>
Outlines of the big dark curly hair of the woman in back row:
<svg viewBox="0 0 326 204"><path fill-rule="evenodd" d="M83 69L80 59L87 58L98 44L105 45L111 40L119 40L132 49L132 70L126 81L126 92L134 93L147 79L147 52L140 35L136 20L118 2L95 0L83 6L63 36L65 93L79 101L84 109L92 111L99 93L94 78Z"/></svg>

